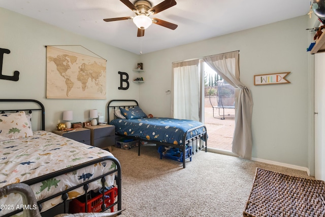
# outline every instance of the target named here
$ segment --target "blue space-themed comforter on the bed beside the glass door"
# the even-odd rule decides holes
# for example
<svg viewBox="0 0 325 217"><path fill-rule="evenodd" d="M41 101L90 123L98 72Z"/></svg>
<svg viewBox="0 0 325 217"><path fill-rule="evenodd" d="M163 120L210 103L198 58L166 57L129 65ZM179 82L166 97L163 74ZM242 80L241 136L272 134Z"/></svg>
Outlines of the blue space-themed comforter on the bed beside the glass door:
<svg viewBox="0 0 325 217"><path fill-rule="evenodd" d="M184 135L188 130L203 125L198 121L172 118L114 119L110 124L115 126L115 132L120 135L175 145L184 144ZM204 131L204 127L190 131L186 139Z"/></svg>

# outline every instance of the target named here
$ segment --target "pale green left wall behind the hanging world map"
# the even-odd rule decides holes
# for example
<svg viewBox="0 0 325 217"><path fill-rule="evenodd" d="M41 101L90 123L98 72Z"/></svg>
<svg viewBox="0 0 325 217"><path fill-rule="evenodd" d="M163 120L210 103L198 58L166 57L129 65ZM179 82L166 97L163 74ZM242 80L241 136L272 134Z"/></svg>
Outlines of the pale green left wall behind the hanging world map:
<svg viewBox="0 0 325 217"><path fill-rule="evenodd" d="M0 8L0 48L9 49L4 55L3 75L20 72L19 81L0 80L1 98L32 98L46 108L46 130L52 131L62 121L62 111L73 111L73 122L89 120L89 110L97 108L106 114L107 102L115 98L139 99L139 86L130 83L128 90L118 90L120 76L132 68L139 55L109 46L81 35ZM46 99L46 45L81 45L107 60L106 100Z"/></svg>

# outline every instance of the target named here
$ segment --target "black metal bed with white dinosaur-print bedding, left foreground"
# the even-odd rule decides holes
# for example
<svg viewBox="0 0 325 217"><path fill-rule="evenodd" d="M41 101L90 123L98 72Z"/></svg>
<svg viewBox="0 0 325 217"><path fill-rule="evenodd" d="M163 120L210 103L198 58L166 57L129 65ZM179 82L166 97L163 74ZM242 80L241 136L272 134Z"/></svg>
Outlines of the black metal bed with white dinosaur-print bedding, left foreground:
<svg viewBox="0 0 325 217"><path fill-rule="evenodd" d="M121 209L121 167L111 153L45 131L45 109L37 100L0 99L0 103L0 187L13 183L29 185L42 215L47 216L58 206L63 208L58 213L68 213L70 200L81 195L87 204L90 192L102 192L104 201L105 192L114 185L116 198L108 206L102 203L101 210L112 211L115 205ZM36 124L40 130L32 131L31 114L33 121L41 119ZM23 202L13 194L1 198L0 204L0 216L11 216L21 213L16 208ZM85 212L92 211L87 207L84 206Z"/></svg>

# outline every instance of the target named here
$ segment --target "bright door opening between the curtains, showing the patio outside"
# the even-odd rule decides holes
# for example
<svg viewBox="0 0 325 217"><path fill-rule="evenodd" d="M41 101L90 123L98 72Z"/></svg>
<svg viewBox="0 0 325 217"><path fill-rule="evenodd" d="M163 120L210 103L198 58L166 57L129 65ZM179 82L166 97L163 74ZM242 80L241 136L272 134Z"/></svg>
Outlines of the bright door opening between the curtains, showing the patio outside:
<svg viewBox="0 0 325 217"><path fill-rule="evenodd" d="M232 152L235 130L236 91L209 65L204 69L204 124L209 135L209 149Z"/></svg>

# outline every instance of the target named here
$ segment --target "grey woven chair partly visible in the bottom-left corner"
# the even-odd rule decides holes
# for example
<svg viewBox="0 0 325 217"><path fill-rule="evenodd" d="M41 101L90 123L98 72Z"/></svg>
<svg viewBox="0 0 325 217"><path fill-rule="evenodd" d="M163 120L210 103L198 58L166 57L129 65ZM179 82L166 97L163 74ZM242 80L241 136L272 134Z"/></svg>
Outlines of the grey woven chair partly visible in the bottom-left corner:
<svg viewBox="0 0 325 217"><path fill-rule="evenodd" d="M24 183L16 183L11 184L8 186L4 186L0 188L0 198L6 195L9 195L11 193L18 193L22 196L22 200L24 205L30 205L30 207L37 206L37 201L34 195L34 192L32 192L30 186L24 184ZM37 206L38 207L38 206ZM65 216L74 216L74 217L113 217L117 216L117 214L121 213L122 210L116 211L116 212L110 212L110 213L76 213L76 214L58 214L55 215L55 217L65 217ZM23 216L24 217L42 217L39 209L24 209L23 210Z"/></svg>

